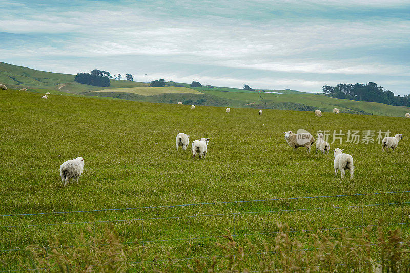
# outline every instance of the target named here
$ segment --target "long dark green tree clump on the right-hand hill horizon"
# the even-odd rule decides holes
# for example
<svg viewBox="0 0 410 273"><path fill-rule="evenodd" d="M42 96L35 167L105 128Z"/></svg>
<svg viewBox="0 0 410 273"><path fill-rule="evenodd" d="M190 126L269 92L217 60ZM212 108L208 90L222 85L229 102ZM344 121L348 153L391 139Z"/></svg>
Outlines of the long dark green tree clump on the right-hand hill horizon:
<svg viewBox="0 0 410 273"><path fill-rule="evenodd" d="M366 84L344 84L336 86L325 85L322 91L326 96L348 99L355 101L372 101L396 106L410 106L410 94L400 97L395 96L393 92L384 90L383 87L377 86L374 82Z"/></svg>

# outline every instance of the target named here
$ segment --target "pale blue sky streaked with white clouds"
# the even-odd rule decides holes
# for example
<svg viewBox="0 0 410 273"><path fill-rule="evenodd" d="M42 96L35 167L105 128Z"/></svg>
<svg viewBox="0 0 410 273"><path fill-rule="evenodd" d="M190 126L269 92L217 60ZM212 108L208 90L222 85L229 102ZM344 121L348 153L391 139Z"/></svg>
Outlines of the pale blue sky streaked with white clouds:
<svg viewBox="0 0 410 273"><path fill-rule="evenodd" d="M0 10L0 61L34 69L410 93L408 0L2 0Z"/></svg>

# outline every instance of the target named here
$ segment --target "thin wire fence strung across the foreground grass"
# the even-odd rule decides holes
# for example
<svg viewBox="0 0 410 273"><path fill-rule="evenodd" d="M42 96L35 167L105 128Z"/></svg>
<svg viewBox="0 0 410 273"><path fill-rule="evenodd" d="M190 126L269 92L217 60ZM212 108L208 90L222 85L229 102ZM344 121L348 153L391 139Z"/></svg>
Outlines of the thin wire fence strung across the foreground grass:
<svg viewBox="0 0 410 273"><path fill-rule="evenodd" d="M383 217L385 226L407 230L409 194L410 191L395 191L5 214L0 215L0 233L4 238L0 240L0 272L33 270L19 265L27 245L47 248L48 240L56 237L64 240L65 247L77 247L75 235L80 232L101 235L106 227L115 230L122 244L138 243L156 251L173 247L190 249L185 257L170 260L160 256L144 263L210 259L211 245L226 234L226 229L235 240L261 241L279 233L278 222L288 224L289 233L293 234L362 229L375 226L375 221Z"/></svg>

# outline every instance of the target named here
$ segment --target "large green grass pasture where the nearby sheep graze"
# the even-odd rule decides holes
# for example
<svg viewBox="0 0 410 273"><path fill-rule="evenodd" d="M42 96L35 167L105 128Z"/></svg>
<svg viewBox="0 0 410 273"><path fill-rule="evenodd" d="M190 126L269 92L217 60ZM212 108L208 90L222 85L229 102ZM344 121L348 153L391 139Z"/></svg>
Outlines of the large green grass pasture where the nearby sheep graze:
<svg viewBox="0 0 410 273"><path fill-rule="evenodd" d="M405 191L410 181L405 118L344 113L318 118L285 110L264 110L259 116L245 108L231 108L227 114L224 107L191 110L190 105L53 94L42 100L38 93L15 90L1 90L0 95L1 215ZM404 138L394 153L382 153L377 143L346 143L346 136L342 144L331 144L331 149L353 156L351 181L333 175L332 154L292 151L283 132L299 128L312 134L390 130ZM207 158L192 160L190 146L176 152L179 132L190 134L190 142L211 138ZM78 184L64 188L59 166L77 156L85 158L84 173ZM380 217L385 223L403 223L408 222L408 206L348 207L403 201L408 194L1 217L0 249L44 246L53 236L73 245L80 231L89 234L90 225L94 234L110 226L124 242L149 241L145 246L151 261L154 256L166 259L166 252L210 256L216 253L213 236L225 234L225 229L254 234L237 239L260 245L273 240L279 220L291 230L375 224ZM317 207L327 209L293 211ZM259 211L265 213L223 215ZM203 217L172 218L185 216ZM141 218L146 220L104 222ZM20 227L10 227L15 225ZM401 227L408 237L408 225ZM188 237L205 239L182 240ZM0 267L18 268L19 259L25 263L25 252L0 252Z"/></svg>

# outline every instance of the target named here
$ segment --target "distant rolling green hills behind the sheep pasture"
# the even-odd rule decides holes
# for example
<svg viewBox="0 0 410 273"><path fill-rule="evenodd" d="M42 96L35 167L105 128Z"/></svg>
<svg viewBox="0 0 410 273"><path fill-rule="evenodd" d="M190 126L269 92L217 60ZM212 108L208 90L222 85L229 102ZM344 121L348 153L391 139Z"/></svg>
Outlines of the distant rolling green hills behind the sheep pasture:
<svg viewBox="0 0 410 273"><path fill-rule="evenodd" d="M74 81L74 75L52 73L0 62L0 83L11 89L71 93L110 97L125 100L226 106L255 109L281 109L404 117L410 107L392 106L376 102L353 101L306 93L296 90L245 91L229 87L190 87L188 83L168 82L165 87L150 88L148 83L111 80L109 87L97 87ZM172 86L170 86L172 85ZM163 89L161 89L163 88ZM279 94L278 94L279 93Z"/></svg>

